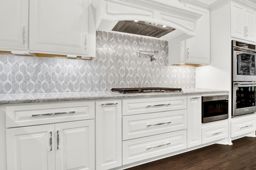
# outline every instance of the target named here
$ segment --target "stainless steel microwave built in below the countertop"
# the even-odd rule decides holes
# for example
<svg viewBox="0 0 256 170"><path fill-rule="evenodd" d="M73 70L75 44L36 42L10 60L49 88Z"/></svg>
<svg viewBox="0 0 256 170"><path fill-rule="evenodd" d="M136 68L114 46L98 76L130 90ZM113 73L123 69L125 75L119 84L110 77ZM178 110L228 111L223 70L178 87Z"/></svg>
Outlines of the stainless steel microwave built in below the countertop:
<svg viewBox="0 0 256 170"><path fill-rule="evenodd" d="M202 96L202 123L228 118L228 95Z"/></svg>

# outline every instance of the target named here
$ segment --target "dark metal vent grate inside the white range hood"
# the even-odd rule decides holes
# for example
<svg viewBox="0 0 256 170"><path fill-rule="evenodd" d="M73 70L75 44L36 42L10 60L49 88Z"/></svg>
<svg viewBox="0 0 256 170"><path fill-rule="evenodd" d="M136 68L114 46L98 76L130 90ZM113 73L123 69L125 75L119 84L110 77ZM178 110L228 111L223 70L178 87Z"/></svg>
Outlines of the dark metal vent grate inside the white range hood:
<svg viewBox="0 0 256 170"><path fill-rule="evenodd" d="M112 31L160 38L175 30L172 27L162 26L145 21L118 21Z"/></svg>

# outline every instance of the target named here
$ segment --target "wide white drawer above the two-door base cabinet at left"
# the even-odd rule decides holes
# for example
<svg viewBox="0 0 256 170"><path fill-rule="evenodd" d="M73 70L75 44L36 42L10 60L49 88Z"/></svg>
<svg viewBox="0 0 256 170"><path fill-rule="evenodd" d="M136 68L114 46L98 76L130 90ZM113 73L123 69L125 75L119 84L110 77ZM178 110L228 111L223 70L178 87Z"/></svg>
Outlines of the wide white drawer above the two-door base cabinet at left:
<svg viewBox="0 0 256 170"><path fill-rule="evenodd" d="M6 107L6 127L94 119L94 102L44 102Z"/></svg>

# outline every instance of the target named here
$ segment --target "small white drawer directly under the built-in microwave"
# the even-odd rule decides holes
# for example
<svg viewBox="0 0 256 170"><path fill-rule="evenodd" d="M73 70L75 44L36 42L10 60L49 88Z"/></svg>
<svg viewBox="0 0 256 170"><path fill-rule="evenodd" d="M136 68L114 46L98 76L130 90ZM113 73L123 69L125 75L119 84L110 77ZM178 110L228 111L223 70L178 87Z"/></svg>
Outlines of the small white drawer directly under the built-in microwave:
<svg viewBox="0 0 256 170"><path fill-rule="evenodd" d="M228 123L202 127L202 144L228 137Z"/></svg>

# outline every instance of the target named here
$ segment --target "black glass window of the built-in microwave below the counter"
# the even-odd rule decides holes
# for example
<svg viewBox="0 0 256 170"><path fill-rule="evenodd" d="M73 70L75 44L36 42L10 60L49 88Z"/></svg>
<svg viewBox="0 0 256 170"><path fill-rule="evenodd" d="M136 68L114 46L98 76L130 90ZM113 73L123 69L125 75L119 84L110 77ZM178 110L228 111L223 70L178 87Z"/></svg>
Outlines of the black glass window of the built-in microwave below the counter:
<svg viewBox="0 0 256 170"><path fill-rule="evenodd" d="M203 102L204 117L224 115L228 113L228 100Z"/></svg>

